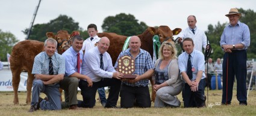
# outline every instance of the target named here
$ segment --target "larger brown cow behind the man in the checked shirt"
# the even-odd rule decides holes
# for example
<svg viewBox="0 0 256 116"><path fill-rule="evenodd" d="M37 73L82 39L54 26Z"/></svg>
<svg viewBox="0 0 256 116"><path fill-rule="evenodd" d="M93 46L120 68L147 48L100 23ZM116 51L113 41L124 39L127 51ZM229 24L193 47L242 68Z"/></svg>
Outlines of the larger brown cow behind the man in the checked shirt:
<svg viewBox="0 0 256 116"><path fill-rule="evenodd" d="M141 35L137 35L140 38L140 41L142 41L142 45L140 48L148 51L151 54L151 57L153 56L153 36L158 35L160 42L164 41L173 41L173 35L178 35L178 33L181 32L180 28L176 28L174 30L170 30L168 26L159 26L159 28L152 28L149 27L145 30ZM110 39L110 47L108 48L108 53L110 54L112 58L112 63L116 63L117 57L119 56L120 52L122 51L123 44L125 43L125 40L127 36L123 35L117 35L116 33L98 33L99 37L107 36L108 39ZM173 42L174 44L174 42ZM154 83L151 80L151 84L154 85ZM152 89L151 94L151 100L155 101L155 92Z"/></svg>

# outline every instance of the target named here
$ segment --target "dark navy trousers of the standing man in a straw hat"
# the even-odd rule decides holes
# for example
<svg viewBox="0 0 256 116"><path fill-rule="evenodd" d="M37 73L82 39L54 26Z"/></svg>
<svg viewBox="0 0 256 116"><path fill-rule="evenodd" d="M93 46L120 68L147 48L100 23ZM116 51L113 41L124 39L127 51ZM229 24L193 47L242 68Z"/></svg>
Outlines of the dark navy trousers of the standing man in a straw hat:
<svg viewBox="0 0 256 116"><path fill-rule="evenodd" d="M246 92L246 50L233 50L223 57L223 88L222 103L231 103L233 96L234 78L237 79L237 100L247 104ZM227 96L227 97L226 97ZM227 100L226 100L227 99Z"/></svg>

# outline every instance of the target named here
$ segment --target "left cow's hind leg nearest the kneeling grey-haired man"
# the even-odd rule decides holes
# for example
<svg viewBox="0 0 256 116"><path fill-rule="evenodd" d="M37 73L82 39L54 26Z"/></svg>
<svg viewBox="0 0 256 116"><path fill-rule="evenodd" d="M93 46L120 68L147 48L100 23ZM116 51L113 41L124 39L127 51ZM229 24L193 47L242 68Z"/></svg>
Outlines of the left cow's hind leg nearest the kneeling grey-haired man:
<svg viewBox="0 0 256 116"><path fill-rule="evenodd" d="M33 80L34 80L34 75L31 74L31 71L28 71L27 99L26 99L27 105L30 105L30 102L31 102L31 88L32 88Z"/></svg>

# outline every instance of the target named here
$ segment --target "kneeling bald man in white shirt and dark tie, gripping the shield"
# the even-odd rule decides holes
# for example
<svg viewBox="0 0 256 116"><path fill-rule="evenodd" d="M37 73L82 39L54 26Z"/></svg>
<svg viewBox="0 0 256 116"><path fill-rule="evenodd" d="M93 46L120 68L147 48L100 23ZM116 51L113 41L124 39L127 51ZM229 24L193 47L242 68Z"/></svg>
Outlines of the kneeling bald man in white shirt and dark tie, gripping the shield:
<svg viewBox="0 0 256 116"><path fill-rule="evenodd" d="M87 51L84 55L81 74L87 75L93 81L93 86L88 87L87 80L80 80L79 88L83 96L80 106L83 108L93 108L95 106L95 94L97 88L110 86L105 108L117 108L117 100L123 74L116 72L112 65L110 54L107 53L110 41L107 37L99 40L97 47Z"/></svg>

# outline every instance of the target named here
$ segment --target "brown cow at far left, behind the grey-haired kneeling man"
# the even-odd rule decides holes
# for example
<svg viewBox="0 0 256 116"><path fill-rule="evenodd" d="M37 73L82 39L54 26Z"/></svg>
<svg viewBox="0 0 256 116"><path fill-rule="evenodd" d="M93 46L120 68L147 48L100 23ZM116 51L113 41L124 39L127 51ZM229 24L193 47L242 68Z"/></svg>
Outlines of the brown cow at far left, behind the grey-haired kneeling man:
<svg viewBox="0 0 256 116"><path fill-rule="evenodd" d="M54 35L52 32L47 32L46 36L48 36L48 38L54 38L58 42L57 48L59 54L62 54L64 50L67 50L67 48L70 47L70 35L66 30L59 30L57 35ZM17 90L20 82L20 73L23 70L28 72L26 103L30 104L31 102L31 88L34 80L34 75L32 75L31 72L33 69L34 57L43 51L43 44L44 42L40 41L25 40L18 42L13 47L10 66L13 74L14 105L19 104Z"/></svg>

